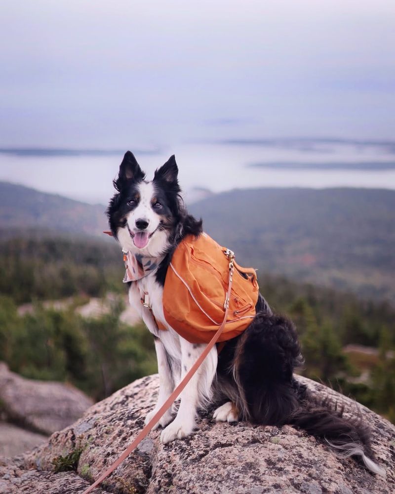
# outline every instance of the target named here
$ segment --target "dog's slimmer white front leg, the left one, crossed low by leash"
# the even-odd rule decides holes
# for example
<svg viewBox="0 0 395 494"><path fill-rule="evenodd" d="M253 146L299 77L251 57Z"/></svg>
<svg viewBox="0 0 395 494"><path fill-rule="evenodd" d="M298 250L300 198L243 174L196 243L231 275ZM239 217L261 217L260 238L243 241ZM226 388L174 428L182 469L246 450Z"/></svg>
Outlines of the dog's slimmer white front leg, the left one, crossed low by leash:
<svg viewBox="0 0 395 494"><path fill-rule="evenodd" d="M169 361L166 355L166 350L164 349L163 343L158 337L155 337L155 350L157 352L158 359L158 373L159 373L159 394L158 403L152 412L147 413L145 424L152 419L152 417L158 412L159 408L171 395L174 389L174 381L172 372L170 369ZM157 429L160 425L164 427L171 420L171 407L163 413L157 424L154 425L153 430Z"/></svg>

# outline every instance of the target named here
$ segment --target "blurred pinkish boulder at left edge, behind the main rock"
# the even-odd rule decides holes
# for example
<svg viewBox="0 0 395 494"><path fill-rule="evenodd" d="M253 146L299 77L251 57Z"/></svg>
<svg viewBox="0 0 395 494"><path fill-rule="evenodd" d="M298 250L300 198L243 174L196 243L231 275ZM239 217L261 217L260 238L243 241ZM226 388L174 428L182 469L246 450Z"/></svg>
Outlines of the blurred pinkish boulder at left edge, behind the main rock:
<svg viewBox="0 0 395 494"><path fill-rule="evenodd" d="M74 386L25 379L0 362L0 409L8 422L52 434L76 421L92 403Z"/></svg>

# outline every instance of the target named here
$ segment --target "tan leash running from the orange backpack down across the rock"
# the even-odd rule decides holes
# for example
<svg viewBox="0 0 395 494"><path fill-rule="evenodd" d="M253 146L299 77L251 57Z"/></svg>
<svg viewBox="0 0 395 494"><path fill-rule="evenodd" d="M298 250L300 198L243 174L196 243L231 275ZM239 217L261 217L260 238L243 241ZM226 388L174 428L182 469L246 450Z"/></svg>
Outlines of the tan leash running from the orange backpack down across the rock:
<svg viewBox="0 0 395 494"><path fill-rule="evenodd" d="M141 443L141 441L148 435L148 433L151 431L151 429L154 427L155 424L158 423L160 417L167 411L169 407L174 403L174 401L178 398L182 390L185 388L185 386L188 384L188 382L191 380L192 376L195 374L197 369L200 367L204 359L207 357L209 354L211 348L215 345L215 343L218 341L218 338L221 336L222 331L225 328L226 325L226 320L228 317L228 311L229 311L229 301L231 298L231 291L232 291L232 281L233 281L233 270L234 270L234 265L233 265L233 260L235 258L235 254L227 249L224 251L224 253L229 257L229 287L228 287L228 293L226 295L226 306L225 306L225 315L224 315L224 320L222 321L221 326L218 328L217 332L214 334L214 336L211 338L211 341L207 344L206 348L203 350L201 353L200 357L197 359L195 364L191 367L191 369L187 372L185 375L184 379L180 382L180 384L175 388L175 390L171 393L171 395L167 398L165 403L160 407L158 412L152 417L152 419L148 422L148 424L142 429L142 431L136 436L134 441L125 449L125 451L114 461L114 463L104 472L100 475L100 477L92 484L90 487L88 487L82 494L88 494L95 489L98 485L100 485L103 480L105 480L110 474L114 472L114 470L122 463L122 461L129 456L130 453L132 453L135 448Z"/></svg>

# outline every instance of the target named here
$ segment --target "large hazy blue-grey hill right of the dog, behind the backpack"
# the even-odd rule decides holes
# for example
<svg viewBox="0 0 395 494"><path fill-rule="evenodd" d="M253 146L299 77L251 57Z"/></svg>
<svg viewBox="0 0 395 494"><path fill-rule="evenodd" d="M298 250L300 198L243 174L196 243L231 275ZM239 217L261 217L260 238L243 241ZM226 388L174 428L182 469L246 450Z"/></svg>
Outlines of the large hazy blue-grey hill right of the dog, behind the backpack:
<svg viewBox="0 0 395 494"><path fill-rule="evenodd" d="M395 191L251 189L193 204L239 262L301 281L395 299Z"/></svg>

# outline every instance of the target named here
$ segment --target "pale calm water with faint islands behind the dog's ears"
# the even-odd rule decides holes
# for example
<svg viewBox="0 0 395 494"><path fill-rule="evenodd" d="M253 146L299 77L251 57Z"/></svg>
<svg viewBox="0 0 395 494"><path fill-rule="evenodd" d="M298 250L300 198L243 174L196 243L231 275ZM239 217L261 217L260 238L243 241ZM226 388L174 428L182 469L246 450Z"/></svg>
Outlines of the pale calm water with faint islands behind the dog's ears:
<svg viewBox="0 0 395 494"><path fill-rule="evenodd" d="M133 150L132 150L133 151ZM395 189L395 165L387 170L319 169L320 164L395 163L394 146L324 141L183 144L138 154L147 176L176 155L187 199L196 187L214 192L248 187L370 187ZM19 156L0 154L0 180L21 183L90 203L108 202L122 154L98 156ZM314 164L314 169L284 169L273 163ZM270 167L254 167L267 164Z"/></svg>

